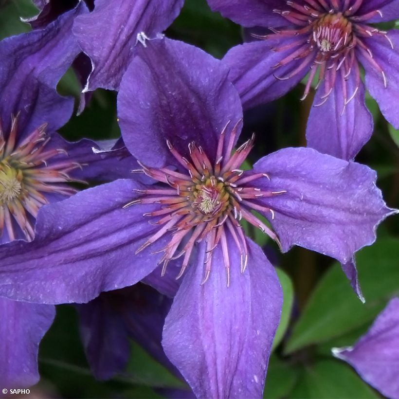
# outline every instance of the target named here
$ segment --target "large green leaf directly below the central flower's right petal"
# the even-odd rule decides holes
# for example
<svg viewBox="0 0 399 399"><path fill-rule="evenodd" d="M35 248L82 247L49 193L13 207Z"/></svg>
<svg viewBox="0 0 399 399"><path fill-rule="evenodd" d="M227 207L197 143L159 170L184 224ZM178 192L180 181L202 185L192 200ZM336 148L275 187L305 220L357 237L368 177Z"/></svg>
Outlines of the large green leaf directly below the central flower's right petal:
<svg viewBox="0 0 399 399"><path fill-rule="evenodd" d="M399 293L399 245L381 238L357 255L359 280L366 303L351 289L338 263L326 272L313 291L293 329L286 353L326 342L373 320L387 300Z"/></svg>

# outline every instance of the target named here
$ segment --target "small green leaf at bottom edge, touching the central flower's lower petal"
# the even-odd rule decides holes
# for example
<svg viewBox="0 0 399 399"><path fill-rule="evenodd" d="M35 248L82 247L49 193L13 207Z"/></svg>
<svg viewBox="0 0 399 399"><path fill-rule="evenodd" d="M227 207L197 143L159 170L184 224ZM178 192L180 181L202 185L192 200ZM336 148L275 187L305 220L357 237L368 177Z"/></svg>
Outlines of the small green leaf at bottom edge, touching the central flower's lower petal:
<svg viewBox="0 0 399 399"><path fill-rule="evenodd" d="M263 398L287 398L298 379L298 371L272 356L269 361Z"/></svg>

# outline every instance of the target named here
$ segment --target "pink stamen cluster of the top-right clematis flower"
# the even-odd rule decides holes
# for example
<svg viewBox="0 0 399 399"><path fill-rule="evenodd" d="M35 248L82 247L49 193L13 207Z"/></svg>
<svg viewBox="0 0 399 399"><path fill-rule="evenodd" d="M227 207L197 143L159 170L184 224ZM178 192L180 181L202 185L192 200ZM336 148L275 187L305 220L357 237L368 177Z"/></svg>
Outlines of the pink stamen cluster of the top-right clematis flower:
<svg viewBox="0 0 399 399"><path fill-rule="evenodd" d="M274 48L275 51L292 52L273 68L278 69L294 60L301 62L285 76L274 75L278 80L288 80L304 69L310 68L308 83L302 100L309 91L313 78L318 72L317 87L325 82L322 101L315 107L323 105L334 88L337 79L342 82L344 108L356 96L361 83L358 54L363 56L378 73L381 73L384 86L387 86L385 73L375 61L364 38L376 35L384 36L393 48L393 43L387 32L378 30L364 23L369 18L381 15L379 10L358 15L358 11L366 0L305 0L303 3L287 1L287 10L275 9L275 13L286 18L293 29L274 29L272 34L255 37L262 39L278 37L297 37L289 45ZM355 76L355 89L348 92L346 81L351 73ZM316 87L316 88L317 88Z"/></svg>

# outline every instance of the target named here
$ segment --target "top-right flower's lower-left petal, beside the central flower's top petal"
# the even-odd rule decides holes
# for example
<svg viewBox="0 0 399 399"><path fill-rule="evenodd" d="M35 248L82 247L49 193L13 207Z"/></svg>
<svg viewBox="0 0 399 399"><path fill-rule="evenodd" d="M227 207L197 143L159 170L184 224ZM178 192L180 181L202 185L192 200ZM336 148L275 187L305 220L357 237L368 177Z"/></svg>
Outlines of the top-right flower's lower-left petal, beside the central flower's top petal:
<svg viewBox="0 0 399 399"><path fill-rule="evenodd" d="M284 40L279 38L255 41L233 47L224 56L222 63L230 69L229 79L234 83L244 109L275 100L301 81L308 73L315 54L310 54L303 69L286 80L279 80L276 76L280 79L290 76L303 59L292 60L278 68L275 66L303 46L306 40L307 36L295 36ZM296 41L298 44L288 50L273 50Z"/></svg>

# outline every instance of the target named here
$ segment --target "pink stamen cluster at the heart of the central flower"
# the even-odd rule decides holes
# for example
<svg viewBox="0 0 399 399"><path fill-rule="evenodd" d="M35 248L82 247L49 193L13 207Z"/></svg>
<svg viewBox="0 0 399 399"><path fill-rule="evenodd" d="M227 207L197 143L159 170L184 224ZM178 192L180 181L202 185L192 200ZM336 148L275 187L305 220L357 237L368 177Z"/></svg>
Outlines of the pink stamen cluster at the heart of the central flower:
<svg viewBox="0 0 399 399"><path fill-rule="evenodd" d="M239 169L253 148L254 136L232 153L238 123L233 127L228 143L225 143L228 125L229 123L220 134L214 163L210 161L202 147L194 142L188 146L190 160L187 160L167 141L169 150L176 161L183 166L185 172L169 168L156 169L142 164L142 169L134 171L143 172L168 185L168 187L136 190L143 194L143 197L125 205L125 207L137 203L163 205L160 210L143 215L152 219L157 218L156 221L151 220L151 223L162 227L136 251L136 254L139 253L162 236L172 232L170 242L161 250L163 252L160 261L163 263L162 274L165 273L171 259L184 256L177 276L180 278L188 266L195 243L205 240L206 259L202 284L209 278L213 251L220 244L227 273L227 285L229 285L228 234L233 238L240 253L241 272L245 271L248 261L248 249L240 224L241 219L260 228L279 243L277 235L251 211L271 213L274 218L272 209L256 203L256 200L261 197L280 195L286 191L263 191L256 187L254 182L265 178L270 180L267 174L255 174Z"/></svg>

